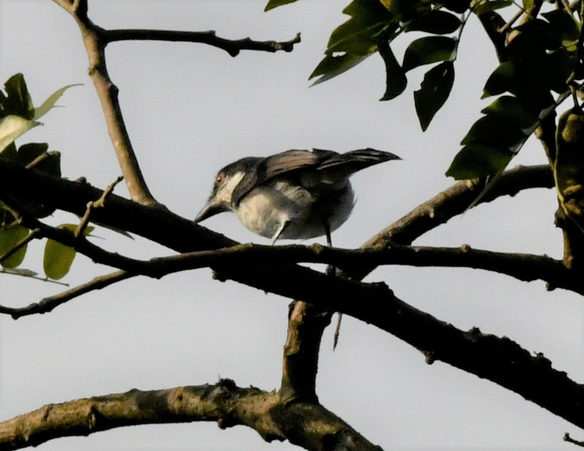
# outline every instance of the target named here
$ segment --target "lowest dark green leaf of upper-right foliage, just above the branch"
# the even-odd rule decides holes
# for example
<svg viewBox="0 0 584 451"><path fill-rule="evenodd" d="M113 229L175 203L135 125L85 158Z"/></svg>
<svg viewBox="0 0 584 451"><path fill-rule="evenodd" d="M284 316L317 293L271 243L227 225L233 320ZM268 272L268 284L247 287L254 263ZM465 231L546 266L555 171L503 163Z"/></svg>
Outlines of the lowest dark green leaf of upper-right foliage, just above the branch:
<svg viewBox="0 0 584 451"><path fill-rule="evenodd" d="M477 179L501 172L514 154L492 144L472 142L454 157L446 175L456 180Z"/></svg>

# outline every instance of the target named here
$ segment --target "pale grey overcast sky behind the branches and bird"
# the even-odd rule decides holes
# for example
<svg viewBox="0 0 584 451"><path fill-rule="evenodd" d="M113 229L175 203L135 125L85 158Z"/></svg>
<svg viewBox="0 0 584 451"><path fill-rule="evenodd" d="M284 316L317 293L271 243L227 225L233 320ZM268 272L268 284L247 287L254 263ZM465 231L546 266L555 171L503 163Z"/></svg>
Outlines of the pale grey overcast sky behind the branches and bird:
<svg viewBox="0 0 584 451"><path fill-rule="evenodd" d="M420 131L413 71L404 95L378 102L384 68L373 55L347 74L308 88L331 31L346 16L345 2L303 0L263 13L265 1L91 1L92 20L105 28L217 30L221 37L289 40L293 53L224 51L190 43L113 43L107 63L134 149L152 193L173 212L193 218L218 169L248 155L319 147L345 152L374 147L404 160L371 167L353 177L357 204L333 233L339 247L357 247L416 205L450 186L443 174L459 142L488 104L484 82L496 64L472 18L456 61L453 94L429 130ZM35 104L70 83L72 88L25 142L48 142L61 152L62 174L106 187L120 174L87 57L74 20L50 0L0 2L0 81L23 72ZM398 59L411 37L398 40ZM567 106L566 106L567 108ZM545 163L530 139L513 164ZM123 186L115 191L127 196ZM552 190L500 199L454 218L416 244L518 251L561 257L554 228ZM75 222L55 214L47 222ZM235 215L205 222L242 242L267 244ZM94 242L151 258L171 253L139 237L131 241L98 229ZM324 239L317 240L324 243ZM23 267L42 272L42 243L29 246ZM63 279L71 286L111 269L78 256ZM582 299L543 282L530 284L464 269L387 267L367 281L385 281L405 302L466 330L506 335L554 368L583 381ZM0 274L0 303L24 306L62 286ZM215 383L276 389L290 300L235 282L211 279L210 270L135 278L92 292L50 314L0 318L0 419L47 403L117 393ZM422 354L392 335L346 317L332 352L325 331L317 393L325 407L384 449L573 449L564 432L584 439L564 420L477 376ZM267 444L249 428L215 424L134 426L87 438L54 440L42 450L193 449L288 450Z"/></svg>

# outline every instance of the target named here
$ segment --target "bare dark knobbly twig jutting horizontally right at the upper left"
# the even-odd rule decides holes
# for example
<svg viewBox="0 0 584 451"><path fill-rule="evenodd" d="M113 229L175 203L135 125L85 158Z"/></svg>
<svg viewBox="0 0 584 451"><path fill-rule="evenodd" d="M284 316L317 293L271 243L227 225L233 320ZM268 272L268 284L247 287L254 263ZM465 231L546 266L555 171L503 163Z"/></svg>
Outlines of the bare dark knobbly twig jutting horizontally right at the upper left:
<svg viewBox="0 0 584 451"><path fill-rule="evenodd" d="M264 52L285 51L291 52L294 44L300 43L300 33L289 40L283 42L276 41L254 41L249 37L244 39L224 39L218 37L214 30L207 32L179 32L176 30L107 30L104 33L105 40L110 42L116 41L180 41L208 44L209 46L221 48L227 51L232 57L235 57L242 50L258 50Z"/></svg>

